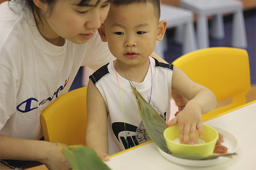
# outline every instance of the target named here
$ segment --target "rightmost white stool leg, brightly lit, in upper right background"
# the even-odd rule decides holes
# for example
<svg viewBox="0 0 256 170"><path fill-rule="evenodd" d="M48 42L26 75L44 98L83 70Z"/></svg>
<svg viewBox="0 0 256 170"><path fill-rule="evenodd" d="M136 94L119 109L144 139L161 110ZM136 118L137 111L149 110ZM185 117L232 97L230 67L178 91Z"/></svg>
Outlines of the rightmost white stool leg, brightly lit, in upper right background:
<svg viewBox="0 0 256 170"><path fill-rule="evenodd" d="M233 16L233 31L231 45L236 48L247 48L244 14L240 10Z"/></svg>

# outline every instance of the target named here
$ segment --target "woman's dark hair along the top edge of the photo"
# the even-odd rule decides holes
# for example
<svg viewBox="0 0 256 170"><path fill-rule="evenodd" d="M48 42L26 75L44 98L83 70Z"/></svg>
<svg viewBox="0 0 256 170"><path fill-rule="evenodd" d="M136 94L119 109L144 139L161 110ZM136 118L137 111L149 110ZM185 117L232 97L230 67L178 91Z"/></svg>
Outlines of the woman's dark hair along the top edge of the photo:
<svg viewBox="0 0 256 170"><path fill-rule="evenodd" d="M97 0L96 6L98 5L99 1L100 0ZM40 8L38 8L35 5L33 0L12 0L12 1L9 0L9 3L10 2L17 3L17 5L20 6L21 10L24 10L27 7L30 8L30 10L33 12L34 17L35 17L35 14L37 14L37 16L39 17L39 20L35 19L36 25L38 25L38 23L41 22L42 14L41 14ZM57 0L41 0L41 2L47 4L47 6L49 7L47 12L49 12L49 14L51 14L52 9L53 9L55 3L57 2ZM90 3L90 0L81 0L80 3L77 4L77 6L87 6L88 3ZM14 11L14 9L12 9L12 10Z"/></svg>

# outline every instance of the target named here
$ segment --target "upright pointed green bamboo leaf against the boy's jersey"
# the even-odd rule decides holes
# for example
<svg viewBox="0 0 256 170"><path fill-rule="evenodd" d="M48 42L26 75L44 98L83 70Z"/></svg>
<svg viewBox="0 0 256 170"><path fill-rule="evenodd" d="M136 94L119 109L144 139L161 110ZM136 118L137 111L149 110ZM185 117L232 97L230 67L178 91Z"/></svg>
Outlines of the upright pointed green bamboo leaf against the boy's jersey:
<svg viewBox="0 0 256 170"><path fill-rule="evenodd" d="M131 82L130 82L131 83ZM154 141L157 146L164 152L169 153L166 146L163 131L167 128L163 118L143 99L140 93L131 85L134 95L137 100L140 116L142 118L148 136Z"/></svg>

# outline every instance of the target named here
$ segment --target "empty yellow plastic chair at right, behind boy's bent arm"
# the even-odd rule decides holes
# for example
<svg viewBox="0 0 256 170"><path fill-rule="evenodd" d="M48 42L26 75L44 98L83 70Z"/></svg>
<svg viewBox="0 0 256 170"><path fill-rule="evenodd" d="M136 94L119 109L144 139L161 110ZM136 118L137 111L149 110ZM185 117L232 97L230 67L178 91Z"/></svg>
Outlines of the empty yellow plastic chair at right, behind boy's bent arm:
<svg viewBox="0 0 256 170"><path fill-rule="evenodd" d="M184 54L172 64L190 79L209 88L217 101L233 97L230 105L203 114L203 122L246 103L250 91L250 67L247 51L239 48L212 47Z"/></svg>

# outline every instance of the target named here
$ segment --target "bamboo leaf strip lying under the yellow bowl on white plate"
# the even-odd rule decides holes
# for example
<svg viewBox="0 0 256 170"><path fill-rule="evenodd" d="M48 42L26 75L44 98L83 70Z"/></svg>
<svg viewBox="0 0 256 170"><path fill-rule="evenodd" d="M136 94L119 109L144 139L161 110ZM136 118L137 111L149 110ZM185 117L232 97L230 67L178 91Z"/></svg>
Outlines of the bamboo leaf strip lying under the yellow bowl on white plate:
<svg viewBox="0 0 256 170"><path fill-rule="evenodd" d="M172 153L171 155L176 156L178 158L183 158L183 159L206 160L206 159L216 159L219 156L232 158L232 155L237 155L237 154L236 153L213 153L212 155L207 156L207 157L201 156L200 154L177 154L177 153Z"/></svg>

